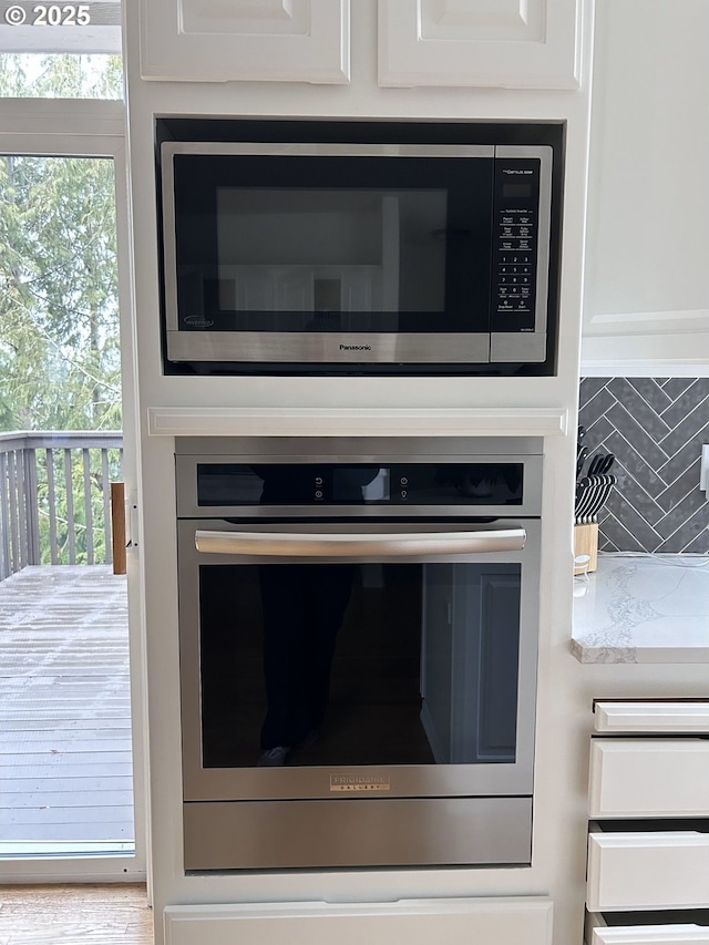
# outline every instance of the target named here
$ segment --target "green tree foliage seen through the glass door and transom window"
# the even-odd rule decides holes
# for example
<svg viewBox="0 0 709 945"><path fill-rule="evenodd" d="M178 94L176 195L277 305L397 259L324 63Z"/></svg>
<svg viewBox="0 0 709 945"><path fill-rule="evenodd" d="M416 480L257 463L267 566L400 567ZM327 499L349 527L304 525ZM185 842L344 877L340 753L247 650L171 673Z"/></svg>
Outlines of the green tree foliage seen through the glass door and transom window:
<svg viewBox="0 0 709 945"><path fill-rule="evenodd" d="M0 92L27 88L20 59L0 60ZM81 59L44 57L33 88L81 93ZM120 427L113 163L2 155L0 429Z"/></svg>

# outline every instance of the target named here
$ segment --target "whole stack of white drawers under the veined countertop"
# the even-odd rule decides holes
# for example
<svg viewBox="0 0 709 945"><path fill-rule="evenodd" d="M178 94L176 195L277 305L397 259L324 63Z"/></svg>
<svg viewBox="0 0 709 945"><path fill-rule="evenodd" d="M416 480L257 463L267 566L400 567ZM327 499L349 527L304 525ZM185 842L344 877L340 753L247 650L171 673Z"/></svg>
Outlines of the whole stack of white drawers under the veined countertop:
<svg viewBox="0 0 709 945"><path fill-rule="evenodd" d="M596 703L604 737L590 749L588 945L709 942L709 740L696 737L701 725L709 731L708 709L708 701ZM635 737L623 737L624 719ZM657 925L647 914L641 924L608 921L661 910L679 912Z"/></svg>

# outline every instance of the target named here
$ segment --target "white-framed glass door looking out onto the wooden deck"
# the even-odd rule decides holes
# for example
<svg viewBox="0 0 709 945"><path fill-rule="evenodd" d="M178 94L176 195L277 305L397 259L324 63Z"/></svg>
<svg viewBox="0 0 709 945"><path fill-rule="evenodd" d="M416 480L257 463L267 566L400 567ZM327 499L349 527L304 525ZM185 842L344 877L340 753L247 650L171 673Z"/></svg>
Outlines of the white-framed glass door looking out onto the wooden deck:
<svg viewBox="0 0 709 945"><path fill-rule="evenodd" d="M0 111L0 859L143 879L140 574L112 573L109 497L136 487L124 106Z"/></svg>

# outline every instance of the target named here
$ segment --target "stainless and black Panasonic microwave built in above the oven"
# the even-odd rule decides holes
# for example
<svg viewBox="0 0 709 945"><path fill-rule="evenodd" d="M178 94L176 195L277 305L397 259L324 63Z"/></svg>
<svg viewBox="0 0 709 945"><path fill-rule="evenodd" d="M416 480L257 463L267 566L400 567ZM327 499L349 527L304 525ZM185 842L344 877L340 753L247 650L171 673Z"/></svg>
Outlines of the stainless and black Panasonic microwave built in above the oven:
<svg viewBox="0 0 709 945"><path fill-rule="evenodd" d="M562 125L162 120L168 373L555 371Z"/></svg>

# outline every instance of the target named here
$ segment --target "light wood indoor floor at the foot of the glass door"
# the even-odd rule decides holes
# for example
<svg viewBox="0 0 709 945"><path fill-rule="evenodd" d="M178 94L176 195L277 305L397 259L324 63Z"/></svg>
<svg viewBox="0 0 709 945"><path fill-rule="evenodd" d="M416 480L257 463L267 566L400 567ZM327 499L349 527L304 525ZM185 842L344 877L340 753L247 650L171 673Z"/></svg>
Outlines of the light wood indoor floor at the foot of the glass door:
<svg viewBox="0 0 709 945"><path fill-rule="evenodd" d="M153 945L145 886L6 886L0 945Z"/></svg>

